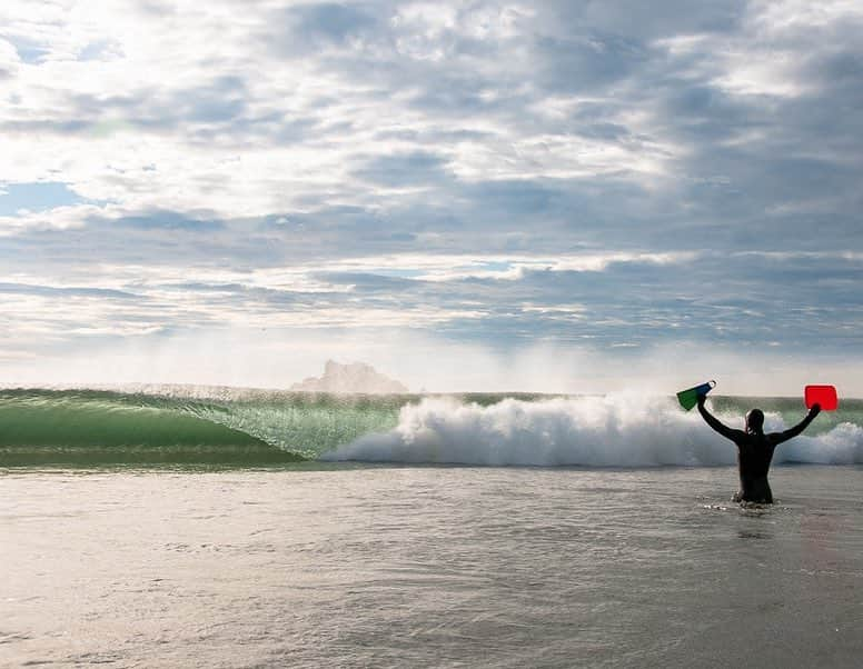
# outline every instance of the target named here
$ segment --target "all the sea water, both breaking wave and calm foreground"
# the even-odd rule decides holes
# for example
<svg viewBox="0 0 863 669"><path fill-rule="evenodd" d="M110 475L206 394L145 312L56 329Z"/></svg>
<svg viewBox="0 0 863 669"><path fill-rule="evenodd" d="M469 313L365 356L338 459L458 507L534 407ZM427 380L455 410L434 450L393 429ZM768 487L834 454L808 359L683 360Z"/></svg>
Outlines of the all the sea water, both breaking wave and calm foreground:
<svg viewBox="0 0 863 669"><path fill-rule="evenodd" d="M0 666L859 667L862 422L741 507L668 398L4 391Z"/></svg>

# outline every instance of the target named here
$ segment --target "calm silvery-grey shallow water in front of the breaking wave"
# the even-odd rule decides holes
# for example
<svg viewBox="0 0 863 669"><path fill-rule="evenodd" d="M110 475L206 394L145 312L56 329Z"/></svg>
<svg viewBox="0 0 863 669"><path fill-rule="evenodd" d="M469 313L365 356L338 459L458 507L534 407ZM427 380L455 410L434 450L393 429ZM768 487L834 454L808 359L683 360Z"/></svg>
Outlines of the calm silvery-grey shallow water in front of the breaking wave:
<svg viewBox="0 0 863 669"><path fill-rule="evenodd" d="M863 468L0 473L0 665L860 667Z"/></svg>

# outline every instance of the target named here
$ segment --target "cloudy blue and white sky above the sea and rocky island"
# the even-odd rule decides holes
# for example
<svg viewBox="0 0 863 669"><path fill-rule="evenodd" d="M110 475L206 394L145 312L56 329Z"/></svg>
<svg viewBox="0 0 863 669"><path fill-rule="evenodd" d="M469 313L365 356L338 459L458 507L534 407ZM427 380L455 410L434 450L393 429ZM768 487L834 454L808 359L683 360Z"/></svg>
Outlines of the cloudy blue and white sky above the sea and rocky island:
<svg viewBox="0 0 863 669"><path fill-rule="evenodd" d="M0 383L863 397L857 0L0 4Z"/></svg>

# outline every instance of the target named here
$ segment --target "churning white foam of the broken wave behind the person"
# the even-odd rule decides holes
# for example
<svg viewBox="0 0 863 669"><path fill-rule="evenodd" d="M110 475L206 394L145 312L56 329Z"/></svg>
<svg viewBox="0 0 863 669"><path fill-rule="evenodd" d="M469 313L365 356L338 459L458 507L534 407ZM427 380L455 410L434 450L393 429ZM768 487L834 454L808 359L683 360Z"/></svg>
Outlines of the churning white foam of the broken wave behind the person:
<svg viewBox="0 0 863 669"><path fill-rule="evenodd" d="M741 423L740 416L718 418L732 427ZM786 427L778 413L766 415L767 431ZM736 449L696 411L685 413L668 398L506 399L487 407L426 398L404 407L393 430L360 437L321 459L538 467L711 466L734 463ZM863 429L842 423L819 437L797 437L777 449L775 461L863 462Z"/></svg>

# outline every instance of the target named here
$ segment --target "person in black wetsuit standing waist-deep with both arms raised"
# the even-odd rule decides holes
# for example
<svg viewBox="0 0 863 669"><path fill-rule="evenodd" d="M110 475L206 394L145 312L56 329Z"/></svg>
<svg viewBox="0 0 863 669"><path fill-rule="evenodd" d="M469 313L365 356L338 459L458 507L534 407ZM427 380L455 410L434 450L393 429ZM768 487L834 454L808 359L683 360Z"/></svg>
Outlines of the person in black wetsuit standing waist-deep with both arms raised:
<svg viewBox="0 0 863 669"><path fill-rule="evenodd" d="M734 501L773 503L773 493L767 482L767 470L773 459L773 450L783 441L796 437L821 412L820 405L813 405L806 418L784 432L764 433L764 412L753 409L746 413L746 429L733 430L721 423L704 407L705 396L698 396L698 411L704 420L723 437L737 445L737 465L741 471L741 489Z"/></svg>

